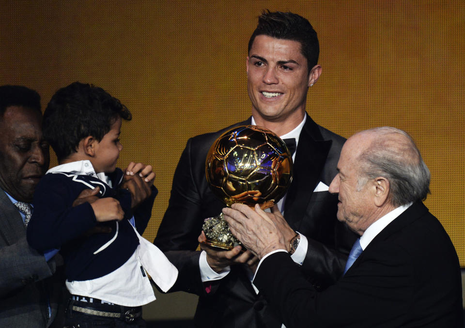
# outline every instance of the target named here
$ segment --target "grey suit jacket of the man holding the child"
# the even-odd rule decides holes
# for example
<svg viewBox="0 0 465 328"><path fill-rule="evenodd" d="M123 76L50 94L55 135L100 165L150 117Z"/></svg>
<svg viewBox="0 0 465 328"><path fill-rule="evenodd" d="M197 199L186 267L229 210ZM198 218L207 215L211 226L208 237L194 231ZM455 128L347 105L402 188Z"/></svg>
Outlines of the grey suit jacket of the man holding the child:
<svg viewBox="0 0 465 328"><path fill-rule="evenodd" d="M46 262L44 255L28 245L21 215L0 189L0 327L52 325L64 292L64 278L55 273L55 258ZM63 315L59 317L56 327Z"/></svg>

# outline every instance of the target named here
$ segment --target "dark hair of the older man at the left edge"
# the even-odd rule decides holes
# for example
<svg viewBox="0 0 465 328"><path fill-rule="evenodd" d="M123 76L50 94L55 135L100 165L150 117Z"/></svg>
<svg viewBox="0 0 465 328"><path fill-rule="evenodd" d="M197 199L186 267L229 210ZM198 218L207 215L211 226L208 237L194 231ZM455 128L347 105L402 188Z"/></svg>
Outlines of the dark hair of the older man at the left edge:
<svg viewBox="0 0 465 328"><path fill-rule="evenodd" d="M40 111L40 95L22 85L0 86L0 119L8 107L22 106Z"/></svg>

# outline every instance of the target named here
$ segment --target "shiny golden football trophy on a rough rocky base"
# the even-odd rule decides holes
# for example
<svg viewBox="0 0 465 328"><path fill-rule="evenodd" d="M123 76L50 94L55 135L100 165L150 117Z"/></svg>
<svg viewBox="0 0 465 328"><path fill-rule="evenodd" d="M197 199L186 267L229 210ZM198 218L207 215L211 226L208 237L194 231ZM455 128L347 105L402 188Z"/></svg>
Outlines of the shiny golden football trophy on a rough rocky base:
<svg viewBox="0 0 465 328"><path fill-rule="evenodd" d="M208 151L205 173L215 195L227 206L243 203L262 209L284 196L292 181L292 156L276 134L257 125L242 125L217 138ZM205 219L210 246L232 250L240 245L223 214Z"/></svg>

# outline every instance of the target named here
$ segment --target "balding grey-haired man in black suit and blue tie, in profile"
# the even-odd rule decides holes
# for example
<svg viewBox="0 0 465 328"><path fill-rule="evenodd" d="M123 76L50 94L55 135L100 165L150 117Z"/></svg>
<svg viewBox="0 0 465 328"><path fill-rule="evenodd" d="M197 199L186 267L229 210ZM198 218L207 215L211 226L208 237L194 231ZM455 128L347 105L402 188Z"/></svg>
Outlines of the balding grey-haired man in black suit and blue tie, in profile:
<svg viewBox="0 0 465 328"><path fill-rule="evenodd" d="M381 127L344 144L338 219L360 235L342 278L317 292L288 255L279 211L234 204L225 219L260 264L254 285L291 327L463 327L457 253L422 200L430 172L404 131ZM272 274L271 274L272 273Z"/></svg>

